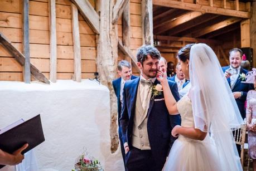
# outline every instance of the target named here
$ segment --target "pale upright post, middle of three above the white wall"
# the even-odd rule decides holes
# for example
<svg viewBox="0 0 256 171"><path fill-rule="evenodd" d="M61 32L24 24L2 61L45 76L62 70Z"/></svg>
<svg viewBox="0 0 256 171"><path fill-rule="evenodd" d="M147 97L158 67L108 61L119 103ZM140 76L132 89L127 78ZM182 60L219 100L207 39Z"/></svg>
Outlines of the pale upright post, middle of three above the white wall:
<svg viewBox="0 0 256 171"><path fill-rule="evenodd" d="M49 0L50 26L50 80L57 80L57 39L56 39L56 9L55 0Z"/></svg>

